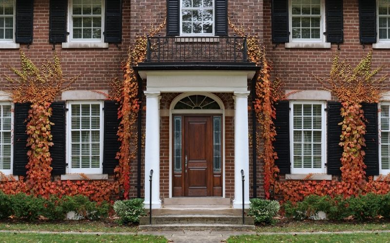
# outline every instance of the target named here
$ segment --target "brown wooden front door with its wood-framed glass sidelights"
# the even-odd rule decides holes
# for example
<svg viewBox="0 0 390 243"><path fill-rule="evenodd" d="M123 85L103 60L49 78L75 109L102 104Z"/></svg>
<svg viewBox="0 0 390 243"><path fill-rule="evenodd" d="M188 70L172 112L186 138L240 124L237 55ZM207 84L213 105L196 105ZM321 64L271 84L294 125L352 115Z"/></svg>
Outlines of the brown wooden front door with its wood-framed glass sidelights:
<svg viewBox="0 0 390 243"><path fill-rule="evenodd" d="M215 133L221 130L217 127L219 130L216 131L215 126L217 122L220 126L221 117L175 116L174 125L178 118L181 118L181 134L178 134L177 127L174 128L174 196L222 196L221 146L215 137L218 136ZM181 137L181 146L177 143L178 137ZM220 137L221 134L219 140ZM178 151L179 147L181 151ZM219 159L219 164L215 164L215 159ZM178 170L180 161L181 170Z"/></svg>

